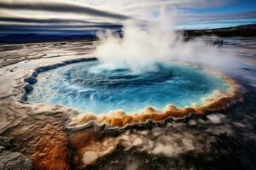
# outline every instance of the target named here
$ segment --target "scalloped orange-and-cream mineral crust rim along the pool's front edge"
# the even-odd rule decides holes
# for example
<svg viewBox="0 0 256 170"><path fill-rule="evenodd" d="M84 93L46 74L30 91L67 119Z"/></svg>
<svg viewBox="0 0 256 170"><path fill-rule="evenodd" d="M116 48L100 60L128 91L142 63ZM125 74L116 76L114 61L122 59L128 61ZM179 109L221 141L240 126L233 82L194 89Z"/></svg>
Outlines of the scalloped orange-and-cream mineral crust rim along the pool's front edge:
<svg viewBox="0 0 256 170"><path fill-rule="evenodd" d="M106 115L96 116L95 114L83 114L73 117L69 123L70 127L76 127L94 121L97 124L108 124L109 127L125 127L131 123L146 122L148 119L160 122L168 116L183 117L189 114L201 115L207 111L219 111L226 109L234 102L241 100L239 85L229 77L219 75L229 85L227 92L215 92L207 99L203 99L205 105L192 105L190 107L177 108L175 105L167 105L164 111L159 111L148 106L141 113L125 115L124 111L111 111Z"/></svg>

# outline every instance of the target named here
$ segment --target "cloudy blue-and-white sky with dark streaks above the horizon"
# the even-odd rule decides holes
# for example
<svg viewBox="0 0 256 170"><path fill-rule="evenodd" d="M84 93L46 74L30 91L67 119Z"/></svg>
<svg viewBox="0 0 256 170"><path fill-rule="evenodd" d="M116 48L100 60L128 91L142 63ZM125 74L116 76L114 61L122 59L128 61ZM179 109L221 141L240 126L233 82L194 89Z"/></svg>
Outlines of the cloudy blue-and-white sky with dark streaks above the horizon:
<svg viewBox="0 0 256 170"><path fill-rule="evenodd" d="M1 0L0 32L77 32L118 28L127 20L154 24L162 8L177 29L256 23L255 0Z"/></svg>

